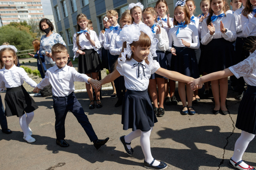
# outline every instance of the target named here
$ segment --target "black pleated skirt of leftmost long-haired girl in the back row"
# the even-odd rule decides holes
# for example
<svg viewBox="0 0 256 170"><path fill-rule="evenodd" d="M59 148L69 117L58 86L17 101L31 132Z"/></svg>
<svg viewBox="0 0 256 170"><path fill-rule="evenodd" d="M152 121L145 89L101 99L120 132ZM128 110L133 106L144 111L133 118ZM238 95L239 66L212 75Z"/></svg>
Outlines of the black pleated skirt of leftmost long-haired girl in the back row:
<svg viewBox="0 0 256 170"><path fill-rule="evenodd" d="M102 70L100 56L94 49L82 49L84 55L78 57L78 73L90 74Z"/></svg>

